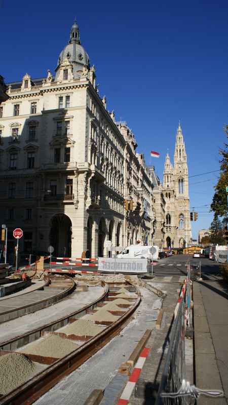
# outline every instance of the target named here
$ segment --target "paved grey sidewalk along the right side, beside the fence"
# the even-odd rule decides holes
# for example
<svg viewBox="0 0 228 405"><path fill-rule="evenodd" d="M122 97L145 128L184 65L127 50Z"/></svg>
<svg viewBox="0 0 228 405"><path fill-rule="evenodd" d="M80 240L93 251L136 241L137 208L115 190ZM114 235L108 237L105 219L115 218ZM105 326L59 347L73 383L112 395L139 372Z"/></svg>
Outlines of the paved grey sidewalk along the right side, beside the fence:
<svg viewBox="0 0 228 405"><path fill-rule="evenodd" d="M220 276L193 283L196 386L225 397L200 395L197 405L228 403L228 286Z"/></svg>

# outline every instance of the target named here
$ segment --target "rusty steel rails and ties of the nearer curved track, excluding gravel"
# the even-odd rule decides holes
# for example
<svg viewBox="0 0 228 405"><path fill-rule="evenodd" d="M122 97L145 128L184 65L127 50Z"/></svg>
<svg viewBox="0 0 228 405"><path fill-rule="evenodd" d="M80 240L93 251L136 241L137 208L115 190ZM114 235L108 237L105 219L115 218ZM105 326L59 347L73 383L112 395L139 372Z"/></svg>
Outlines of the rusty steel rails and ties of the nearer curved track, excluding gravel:
<svg viewBox="0 0 228 405"><path fill-rule="evenodd" d="M49 335L50 333L63 336L62 333L56 332L57 328L61 328L62 326L66 325L68 321L69 323L71 323L72 321L77 321L77 319L84 316L86 313L96 312L94 308L105 305L103 301L115 300L116 295L118 295L118 289L120 289L120 285L123 284L123 282L106 284L102 281L102 285L104 286L104 294L102 297L100 297L99 300L91 303L82 310L70 314L70 316L67 318L62 318L59 319L58 322L53 322L52 324L45 325L45 327L43 327L42 329L40 328L36 331L31 331L29 334L27 334L26 339L29 339L29 336L32 336L32 340L34 340L35 336L35 339L38 339L40 336L47 336L47 334ZM94 353L101 349L121 329L123 329L126 323L130 320L132 313L135 311L141 300L140 293L133 284L131 284L130 282L126 282L124 284L124 288L127 289L129 292L134 291L135 297L127 298L127 301L131 301L132 304L128 303L126 305L118 305L120 307L120 312L109 311L110 313L117 315L123 313L121 311L121 307L125 308L125 312L118 318L118 320L115 320L114 322L95 321L96 324L99 323L99 325L106 325L106 328L94 337L87 337L88 340L85 343L82 343L79 348L75 349L62 358L56 359L26 354L26 356L33 361L47 364L47 368L30 378L29 380L25 381L21 385L17 386L12 391L3 395L2 398L0 398L0 404L29 405L33 403L36 399L44 395L45 392L47 392L55 384L57 384L63 377L71 373L73 370L77 369L84 361L86 361L89 357L91 357ZM12 341L5 342L5 344L2 346L3 350L0 351L0 355L10 353L6 350L11 350L10 347L15 347L15 345L17 348L23 346L24 337L25 336L18 337L17 339L14 339ZM79 340L78 338L80 337L75 335L68 335L68 339L69 338ZM16 350L14 349L14 351Z"/></svg>

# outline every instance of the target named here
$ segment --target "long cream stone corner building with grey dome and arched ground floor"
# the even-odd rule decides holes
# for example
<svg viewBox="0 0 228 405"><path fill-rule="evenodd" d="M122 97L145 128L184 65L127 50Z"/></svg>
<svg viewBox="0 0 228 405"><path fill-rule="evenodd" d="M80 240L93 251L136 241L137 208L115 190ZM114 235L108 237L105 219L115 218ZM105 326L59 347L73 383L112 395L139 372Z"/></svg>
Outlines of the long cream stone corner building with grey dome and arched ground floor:
<svg viewBox="0 0 228 405"><path fill-rule="evenodd" d="M7 85L0 117L0 209L8 228L21 228L20 249L54 256L108 255L145 235L151 242L152 179L136 140L115 123L96 86L94 66L74 22L53 76ZM133 209L124 210L124 200Z"/></svg>

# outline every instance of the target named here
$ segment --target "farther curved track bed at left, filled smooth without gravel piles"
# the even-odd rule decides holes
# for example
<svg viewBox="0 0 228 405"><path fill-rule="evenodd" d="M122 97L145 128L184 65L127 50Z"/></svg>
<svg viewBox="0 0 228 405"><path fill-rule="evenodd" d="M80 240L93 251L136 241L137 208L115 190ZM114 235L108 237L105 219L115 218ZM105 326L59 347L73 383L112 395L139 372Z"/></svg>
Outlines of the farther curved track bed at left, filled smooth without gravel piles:
<svg viewBox="0 0 228 405"><path fill-rule="evenodd" d="M45 285L37 290L0 300L0 323L52 305L71 294L74 281L67 275L45 275Z"/></svg>

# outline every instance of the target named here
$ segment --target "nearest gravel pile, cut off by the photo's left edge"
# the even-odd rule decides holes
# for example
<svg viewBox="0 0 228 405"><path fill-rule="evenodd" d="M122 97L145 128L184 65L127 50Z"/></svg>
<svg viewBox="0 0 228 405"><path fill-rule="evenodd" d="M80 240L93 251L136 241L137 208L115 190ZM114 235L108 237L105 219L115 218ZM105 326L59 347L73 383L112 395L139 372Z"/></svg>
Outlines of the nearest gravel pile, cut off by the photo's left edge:
<svg viewBox="0 0 228 405"><path fill-rule="evenodd" d="M8 353L0 357L0 394L4 395L26 381L37 366L20 353Z"/></svg>

